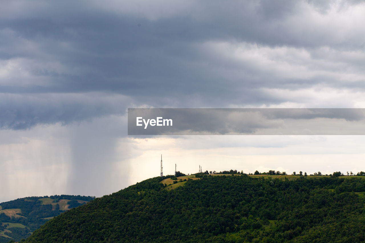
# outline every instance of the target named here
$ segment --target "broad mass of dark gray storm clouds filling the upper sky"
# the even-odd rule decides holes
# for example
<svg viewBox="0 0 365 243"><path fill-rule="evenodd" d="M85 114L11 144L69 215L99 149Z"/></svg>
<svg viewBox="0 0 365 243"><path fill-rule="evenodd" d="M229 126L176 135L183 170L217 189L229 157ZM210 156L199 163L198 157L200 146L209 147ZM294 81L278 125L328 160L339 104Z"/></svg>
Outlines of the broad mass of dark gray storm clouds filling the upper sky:
<svg viewBox="0 0 365 243"><path fill-rule="evenodd" d="M122 115L129 105L311 105L317 99L273 89L363 92L365 31L353 25L362 20L356 9L364 4L4 1L0 128ZM92 99L82 99L88 93ZM129 99L118 104L107 98L113 95Z"/></svg>

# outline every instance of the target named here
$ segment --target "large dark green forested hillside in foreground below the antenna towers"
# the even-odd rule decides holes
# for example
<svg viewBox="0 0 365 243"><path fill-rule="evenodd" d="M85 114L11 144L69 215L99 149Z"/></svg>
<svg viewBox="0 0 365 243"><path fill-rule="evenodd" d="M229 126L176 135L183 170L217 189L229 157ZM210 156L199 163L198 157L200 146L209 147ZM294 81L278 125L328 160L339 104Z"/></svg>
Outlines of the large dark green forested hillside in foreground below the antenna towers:
<svg viewBox="0 0 365 243"><path fill-rule="evenodd" d="M197 179L197 178L196 178ZM151 178L62 213L25 242L362 242L363 177Z"/></svg>

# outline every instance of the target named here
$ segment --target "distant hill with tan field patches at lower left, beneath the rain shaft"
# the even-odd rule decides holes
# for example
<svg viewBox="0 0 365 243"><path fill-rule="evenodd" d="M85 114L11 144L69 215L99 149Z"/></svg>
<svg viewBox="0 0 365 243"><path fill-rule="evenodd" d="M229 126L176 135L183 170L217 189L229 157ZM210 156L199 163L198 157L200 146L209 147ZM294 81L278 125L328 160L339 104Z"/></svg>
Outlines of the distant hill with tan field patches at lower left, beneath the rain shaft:
<svg viewBox="0 0 365 243"><path fill-rule="evenodd" d="M0 243L20 241L48 220L95 197L54 195L0 203Z"/></svg>

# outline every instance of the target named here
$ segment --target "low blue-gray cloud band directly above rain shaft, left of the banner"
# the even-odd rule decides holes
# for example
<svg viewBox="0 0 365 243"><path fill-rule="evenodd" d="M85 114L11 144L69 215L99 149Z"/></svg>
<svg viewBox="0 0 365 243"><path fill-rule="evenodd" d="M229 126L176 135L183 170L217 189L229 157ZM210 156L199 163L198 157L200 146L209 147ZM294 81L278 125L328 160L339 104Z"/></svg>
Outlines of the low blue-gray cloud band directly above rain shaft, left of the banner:
<svg viewBox="0 0 365 243"><path fill-rule="evenodd" d="M37 124L66 125L111 114L123 115L126 102L123 96L98 93L3 94L0 96L0 129L19 130Z"/></svg>

